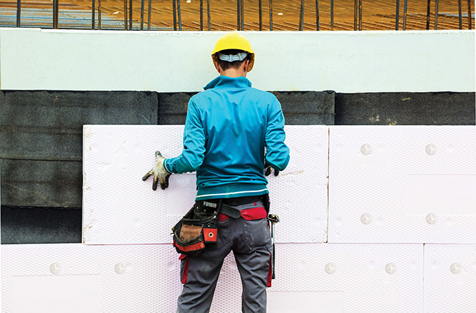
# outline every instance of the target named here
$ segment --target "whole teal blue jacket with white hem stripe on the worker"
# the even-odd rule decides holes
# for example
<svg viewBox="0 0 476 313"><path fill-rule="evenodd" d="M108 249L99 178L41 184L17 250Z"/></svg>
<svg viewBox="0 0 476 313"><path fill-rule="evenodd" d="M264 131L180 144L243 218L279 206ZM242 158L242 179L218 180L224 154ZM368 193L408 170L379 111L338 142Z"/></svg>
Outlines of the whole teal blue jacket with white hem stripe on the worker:
<svg viewBox="0 0 476 313"><path fill-rule="evenodd" d="M204 89L190 98L182 154L165 159L165 170L196 171L196 200L268 193L265 147L275 170L289 162L279 101L246 77L219 76Z"/></svg>

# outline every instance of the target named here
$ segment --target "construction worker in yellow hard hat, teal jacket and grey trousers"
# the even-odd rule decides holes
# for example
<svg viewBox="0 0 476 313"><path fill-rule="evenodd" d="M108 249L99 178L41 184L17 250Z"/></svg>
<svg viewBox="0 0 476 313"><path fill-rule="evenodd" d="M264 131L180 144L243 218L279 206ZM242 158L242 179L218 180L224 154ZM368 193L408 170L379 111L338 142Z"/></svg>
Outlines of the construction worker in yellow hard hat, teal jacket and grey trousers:
<svg viewBox="0 0 476 313"><path fill-rule="evenodd" d="M165 189L170 174L196 171L196 216L220 199L241 212L239 218L218 216L216 243L203 253L180 256L183 289L177 312L209 311L230 251L242 277L242 312L266 312L271 245L265 174L274 169L277 175L289 162L284 116L277 98L251 88L246 78L255 54L245 37L225 34L211 54L220 76L190 98L182 154L163 158L156 153L156 166L143 179L154 174L153 189L158 181Z"/></svg>

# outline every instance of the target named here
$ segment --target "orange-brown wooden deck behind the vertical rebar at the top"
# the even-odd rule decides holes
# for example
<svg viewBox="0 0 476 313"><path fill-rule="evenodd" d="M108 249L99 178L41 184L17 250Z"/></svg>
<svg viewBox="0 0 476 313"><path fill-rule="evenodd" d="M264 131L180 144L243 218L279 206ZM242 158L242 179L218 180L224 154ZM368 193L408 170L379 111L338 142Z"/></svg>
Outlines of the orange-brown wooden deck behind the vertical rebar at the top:
<svg viewBox="0 0 476 313"><path fill-rule="evenodd" d="M127 6L130 5L127 0ZM203 1L203 30L208 30L206 0ZM210 30L237 30L237 1L211 0ZM462 0L462 28L468 30L468 1ZM472 26L475 28L475 1L471 0ZM259 1L244 0L244 30L260 30ZM270 30L270 2L263 0L263 30ZM403 27L403 4L400 1L399 30ZM101 29L124 30L124 1L101 1ZM147 29L148 5L144 3L144 29ZM173 30L173 1L151 3L151 29ZM15 27L16 1L0 1L0 26ZM98 27L98 0L96 27ZM273 30L299 30L300 0L273 0ZM53 1L27 0L21 3L21 27L53 27ZM315 1L306 1L303 30L316 30ZM435 25L435 0L430 4L430 30ZM438 30L458 30L458 0L439 0ZM200 0L181 0L182 30L200 30ZM92 1L68 0L59 2L58 27L62 29L91 29ZM127 13L129 15L129 13ZM141 24L141 1L132 3L133 29ZM320 30L331 30L330 0L319 1ZM178 18L177 18L178 24ZM178 25L177 25L178 28ZM396 0L362 0L362 30L395 30ZM406 30L427 29L427 1L408 0ZM354 1L334 1L333 30L354 30Z"/></svg>

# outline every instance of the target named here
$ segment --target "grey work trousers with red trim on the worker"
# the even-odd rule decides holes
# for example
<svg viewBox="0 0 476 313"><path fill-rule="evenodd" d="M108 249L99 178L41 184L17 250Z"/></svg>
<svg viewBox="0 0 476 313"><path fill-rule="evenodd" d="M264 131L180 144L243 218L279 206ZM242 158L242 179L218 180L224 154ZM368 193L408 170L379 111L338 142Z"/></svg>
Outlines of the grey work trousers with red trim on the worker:
<svg viewBox="0 0 476 313"><path fill-rule="evenodd" d="M263 202L235 206L238 210L263 207ZM182 255L182 294L177 313L210 311L218 275L225 257L233 251L242 278L242 312L266 312L266 286L270 286L271 238L268 220L243 217L218 221L217 243L198 256Z"/></svg>

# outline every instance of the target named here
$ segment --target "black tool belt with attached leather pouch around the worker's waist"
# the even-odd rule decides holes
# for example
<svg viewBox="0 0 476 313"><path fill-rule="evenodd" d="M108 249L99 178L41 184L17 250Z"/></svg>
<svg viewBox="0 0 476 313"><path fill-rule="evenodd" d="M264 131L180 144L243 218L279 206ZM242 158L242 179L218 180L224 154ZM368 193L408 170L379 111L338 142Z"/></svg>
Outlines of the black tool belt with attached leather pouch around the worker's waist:
<svg viewBox="0 0 476 313"><path fill-rule="evenodd" d="M183 255L199 255L206 245L213 246L216 243L218 236L216 223L218 220L223 221L227 217L237 219L242 217L242 213L244 213L243 217L248 219L247 216L250 215L250 212L246 210L240 212L232 205L243 205L263 200L263 203L265 203L264 217L266 217L269 209L267 196L196 201L189 212L172 228L175 250ZM258 215L261 216L263 213L258 212Z"/></svg>

